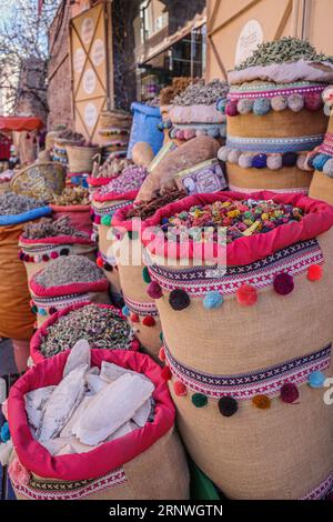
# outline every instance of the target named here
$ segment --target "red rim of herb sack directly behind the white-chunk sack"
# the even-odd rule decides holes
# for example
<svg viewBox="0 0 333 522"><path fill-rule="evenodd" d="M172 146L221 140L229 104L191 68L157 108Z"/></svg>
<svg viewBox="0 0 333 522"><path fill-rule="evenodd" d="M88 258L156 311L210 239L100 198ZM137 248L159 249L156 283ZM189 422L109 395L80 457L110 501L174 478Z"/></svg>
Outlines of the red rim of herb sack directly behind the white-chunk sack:
<svg viewBox="0 0 333 522"><path fill-rule="evenodd" d="M67 307L67 308L60 310L59 312L52 313L52 315L49 317L49 319L43 323L43 325L41 328L39 328L34 332L34 334L32 335L31 341L30 341L30 355L31 355L32 361L33 361L34 364L38 364L39 362L42 362L42 361L46 361L47 359L50 359L50 358L46 358L40 351L40 345L41 345L42 339L48 334L49 327L54 324L60 318L63 318L64 315L68 315L73 310L80 310L81 308L87 307L89 304L93 304L94 307L108 309L108 310L112 311L112 313L114 315L119 315L121 319L127 321L127 318L124 317L122 311L119 310L118 308L113 307L112 304L90 303L88 301L85 301L83 303L71 304L70 307ZM131 343L131 350L134 351L134 352L140 350L140 342L138 341L138 339L133 339L133 341Z"/></svg>

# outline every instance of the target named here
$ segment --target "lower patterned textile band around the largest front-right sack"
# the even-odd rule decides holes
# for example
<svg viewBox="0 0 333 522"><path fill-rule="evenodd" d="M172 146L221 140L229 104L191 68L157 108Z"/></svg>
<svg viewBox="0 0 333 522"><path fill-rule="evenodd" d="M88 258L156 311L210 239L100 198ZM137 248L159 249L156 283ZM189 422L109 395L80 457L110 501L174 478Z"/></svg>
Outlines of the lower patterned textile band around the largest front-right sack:
<svg viewBox="0 0 333 522"><path fill-rule="evenodd" d="M249 400L259 394L269 396L280 393L286 382L304 383L314 371L323 371L330 367L331 343L323 349L301 358L234 375L214 375L199 372L185 367L174 359L164 342L165 361L176 380L189 390L202 393L212 399L232 396L236 400Z"/></svg>

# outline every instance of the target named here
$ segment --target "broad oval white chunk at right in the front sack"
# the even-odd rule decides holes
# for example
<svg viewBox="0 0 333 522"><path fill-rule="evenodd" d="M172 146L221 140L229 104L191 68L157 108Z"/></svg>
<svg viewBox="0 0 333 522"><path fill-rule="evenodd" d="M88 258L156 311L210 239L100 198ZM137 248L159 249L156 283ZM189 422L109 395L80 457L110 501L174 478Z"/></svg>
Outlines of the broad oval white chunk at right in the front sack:
<svg viewBox="0 0 333 522"><path fill-rule="evenodd" d="M93 398L81 416L77 436L89 445L104 441L133 418L153 390L153 383L138 373L123 374Z"/></svg>

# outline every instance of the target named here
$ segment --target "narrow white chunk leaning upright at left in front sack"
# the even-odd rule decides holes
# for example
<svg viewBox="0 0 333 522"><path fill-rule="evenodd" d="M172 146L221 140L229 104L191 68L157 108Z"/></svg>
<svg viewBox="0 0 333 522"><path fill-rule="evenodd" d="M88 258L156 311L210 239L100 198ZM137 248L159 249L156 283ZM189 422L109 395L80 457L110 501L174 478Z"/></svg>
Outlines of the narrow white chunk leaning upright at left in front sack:
<svg viewBox="0 0 333 522"><path fill-rule="evenodd" d="M87 364L72 370L51 394L38 431L39 441L48 441L60 433L84 394Z"/></svg>

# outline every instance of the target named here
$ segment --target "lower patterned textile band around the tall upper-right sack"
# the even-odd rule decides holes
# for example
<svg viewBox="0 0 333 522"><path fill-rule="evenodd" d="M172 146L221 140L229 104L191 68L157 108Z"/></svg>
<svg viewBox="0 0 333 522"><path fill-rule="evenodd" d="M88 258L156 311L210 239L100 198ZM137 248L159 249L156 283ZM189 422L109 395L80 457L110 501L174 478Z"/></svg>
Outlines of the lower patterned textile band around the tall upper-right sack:
<svg viewBox="0 0 333 522"><path fill-rule="evenodd" d="M284 152L302 152L319 147L324 134L305 135L300 138L238 138L228 137L226 147L242 152L258 152L261 154Z"/></svg>

